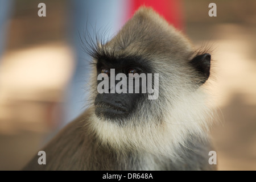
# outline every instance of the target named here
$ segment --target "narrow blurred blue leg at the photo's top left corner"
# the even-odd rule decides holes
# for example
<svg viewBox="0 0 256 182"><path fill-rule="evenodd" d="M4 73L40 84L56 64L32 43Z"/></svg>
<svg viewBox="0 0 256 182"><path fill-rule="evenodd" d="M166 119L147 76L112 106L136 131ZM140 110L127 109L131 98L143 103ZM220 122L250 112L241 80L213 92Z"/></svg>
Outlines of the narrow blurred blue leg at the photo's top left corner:
<svg viewBox="0 0 256 182"><path fill-rule="evenodd" d="M5 49L8 20L11 14L12 6L12 0L0 0L0 56Z"/></svg>

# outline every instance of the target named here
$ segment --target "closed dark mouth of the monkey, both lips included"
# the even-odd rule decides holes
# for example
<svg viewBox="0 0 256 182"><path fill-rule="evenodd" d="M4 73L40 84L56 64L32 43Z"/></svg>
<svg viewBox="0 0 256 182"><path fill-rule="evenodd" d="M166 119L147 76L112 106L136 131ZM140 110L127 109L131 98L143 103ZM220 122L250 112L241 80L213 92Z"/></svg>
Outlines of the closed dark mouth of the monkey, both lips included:
<svg viewBox="0 0 256 182"><path fill-rule="evenodd" d="M95 107L95 114L97 116L104 115L107 118L116 118L129 113L129 110L125 107L109 104L108 102L96 102Z"/></svg>

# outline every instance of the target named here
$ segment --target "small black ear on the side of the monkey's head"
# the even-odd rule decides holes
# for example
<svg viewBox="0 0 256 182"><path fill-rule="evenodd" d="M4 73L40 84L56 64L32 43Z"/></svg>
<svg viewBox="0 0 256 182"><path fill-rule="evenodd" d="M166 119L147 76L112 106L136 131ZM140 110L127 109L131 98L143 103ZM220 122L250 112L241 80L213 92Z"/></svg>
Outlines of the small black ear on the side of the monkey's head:
<svg viewBox="0 0 256 182"><path fill-rule="evenodd" d="M190 61L190 63L199 75L203 77L200 79L199 85L204 84L210 76L210 54L204 53L203 55L197 55Z"/></svg>

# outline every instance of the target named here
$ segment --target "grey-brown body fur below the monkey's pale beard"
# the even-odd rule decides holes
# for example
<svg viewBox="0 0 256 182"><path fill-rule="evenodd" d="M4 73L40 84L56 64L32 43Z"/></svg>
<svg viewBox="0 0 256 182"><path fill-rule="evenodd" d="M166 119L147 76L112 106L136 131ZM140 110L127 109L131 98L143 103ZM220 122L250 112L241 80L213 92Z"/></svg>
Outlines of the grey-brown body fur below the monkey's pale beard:
<svg viewBox="0 0 256 182"><path fill-rule="evenodd" d="M23 170L210 170L210 145L191 137L185 146L177 148L177 156L157 156L130 151L115 152L102 146L95 135L84 127L88 112L70 123L42 150L46 152L46 165L39 165L35 156ZM76 141L76 142L74 142Z"/></svg>

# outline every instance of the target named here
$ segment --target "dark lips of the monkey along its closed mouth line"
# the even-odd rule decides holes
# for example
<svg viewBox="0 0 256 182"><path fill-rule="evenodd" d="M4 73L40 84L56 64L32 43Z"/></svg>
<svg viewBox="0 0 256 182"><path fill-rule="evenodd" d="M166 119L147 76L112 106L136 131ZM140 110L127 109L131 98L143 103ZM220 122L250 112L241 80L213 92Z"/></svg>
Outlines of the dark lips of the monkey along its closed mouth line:
<svg viewBox="0 0 256 182"><path fill-rule="evenodd" d="M96 113L126 114L128 110L123 106L116 106L108 102L95 103Z"/></svg>

